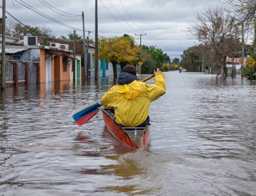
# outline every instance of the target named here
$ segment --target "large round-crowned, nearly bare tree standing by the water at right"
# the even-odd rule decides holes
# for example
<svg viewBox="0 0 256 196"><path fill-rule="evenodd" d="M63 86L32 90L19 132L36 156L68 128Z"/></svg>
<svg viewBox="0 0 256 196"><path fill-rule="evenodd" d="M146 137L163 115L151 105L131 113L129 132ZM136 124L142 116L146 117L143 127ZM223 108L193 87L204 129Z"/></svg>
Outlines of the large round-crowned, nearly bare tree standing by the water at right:
<svg viewBox="0 0 256 196"><path fill-rule="evenodd" d="M221 57L224 75L227 76L226 57L234 51L238 40L236 20L223 9L205 9L197 13L197 22L190 27L190 32L196 35L204 45L209 46Z"/></svg>

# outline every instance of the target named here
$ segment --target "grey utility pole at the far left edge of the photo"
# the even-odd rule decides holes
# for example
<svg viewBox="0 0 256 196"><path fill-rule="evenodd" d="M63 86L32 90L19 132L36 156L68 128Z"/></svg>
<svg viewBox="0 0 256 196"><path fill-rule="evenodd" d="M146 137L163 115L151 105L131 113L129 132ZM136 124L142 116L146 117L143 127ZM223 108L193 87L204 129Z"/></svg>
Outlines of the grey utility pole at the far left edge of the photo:
<svg viewBox="0 0 256 196"><path fill-rule="evenodd" d="M3 18L2 18L2 22L3 22L3 28L2 28L2 79L1 79L1 89L4 90L5 89L5 10L6 10L6 1L3 0Z"/></svg>

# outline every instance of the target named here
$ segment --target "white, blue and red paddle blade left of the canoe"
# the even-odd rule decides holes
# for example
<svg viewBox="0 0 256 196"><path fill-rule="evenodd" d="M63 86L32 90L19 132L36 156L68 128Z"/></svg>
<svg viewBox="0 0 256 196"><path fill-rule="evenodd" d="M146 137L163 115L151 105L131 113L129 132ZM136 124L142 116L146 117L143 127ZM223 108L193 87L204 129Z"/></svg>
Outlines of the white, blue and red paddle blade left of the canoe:
<svg viewBox="0 0 256 196"><path fill-rule="evenodd" d="M93 102L83 105L72 112L76 124L81 126L99 112L100 104Z"/></svg>

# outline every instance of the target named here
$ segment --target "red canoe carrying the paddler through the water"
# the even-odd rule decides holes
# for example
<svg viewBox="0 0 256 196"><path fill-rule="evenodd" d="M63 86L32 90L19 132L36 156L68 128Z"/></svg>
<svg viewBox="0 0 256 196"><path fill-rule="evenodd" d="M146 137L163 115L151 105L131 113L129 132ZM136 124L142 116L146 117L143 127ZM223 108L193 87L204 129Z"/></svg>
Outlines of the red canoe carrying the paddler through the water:
<svg viewBox="0 0 256 196"><path fill-rule="evenodd" d="M150 126L122 127L115 123L114 108L101 108L106 128L118 140L126 145L144 150L150 139Z"/></svg>

